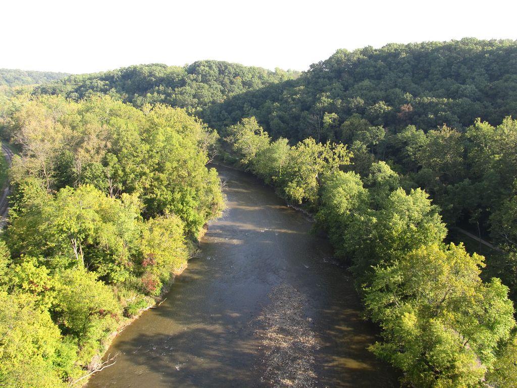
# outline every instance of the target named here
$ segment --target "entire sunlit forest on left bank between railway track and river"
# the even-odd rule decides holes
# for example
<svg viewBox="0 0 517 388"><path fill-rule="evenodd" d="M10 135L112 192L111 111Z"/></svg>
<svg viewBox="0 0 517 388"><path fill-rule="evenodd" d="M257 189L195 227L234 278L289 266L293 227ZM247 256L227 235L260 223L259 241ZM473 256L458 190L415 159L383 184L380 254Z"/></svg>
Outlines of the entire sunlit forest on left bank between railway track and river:
<svg viewBox="0 0 517 388"><path fill-rule="evenodd" d="M2 131L19 156L0 242L0 383L80 385L221 214L206 167L217 133L184 110L109 96L9 102Z"/></svg>

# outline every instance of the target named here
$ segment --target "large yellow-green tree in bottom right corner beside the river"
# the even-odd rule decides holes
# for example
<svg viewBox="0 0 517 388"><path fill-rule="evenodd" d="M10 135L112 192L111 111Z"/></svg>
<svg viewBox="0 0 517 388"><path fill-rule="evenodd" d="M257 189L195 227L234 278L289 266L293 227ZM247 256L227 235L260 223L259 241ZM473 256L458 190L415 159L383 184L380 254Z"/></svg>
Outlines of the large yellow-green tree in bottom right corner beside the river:
<svg viewBox="0 0 517 388"><path fill-rule="evenodd" d="M478 386L515 325L508 288L482 283L482 265L463 246L432 244L377 266L365 300L384 327L374 353L417 386Z"/></svg>

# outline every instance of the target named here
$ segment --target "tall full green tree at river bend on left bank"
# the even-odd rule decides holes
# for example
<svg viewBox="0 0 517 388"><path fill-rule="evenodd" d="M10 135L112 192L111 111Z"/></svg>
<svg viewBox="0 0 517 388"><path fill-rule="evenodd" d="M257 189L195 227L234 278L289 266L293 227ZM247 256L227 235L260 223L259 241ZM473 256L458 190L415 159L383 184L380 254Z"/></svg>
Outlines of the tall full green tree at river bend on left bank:
<svg viewBox="0 0 517 388"><path fill-rule="evenodd" d="M223 208L217 173L205 167L207 148L215 139L184 110L158 108L146 116L149 126L142 136L147 152L139 156L141 168L150 173L142 172L135 189L142 195L147 215L174 213L185 223L186 232L196 237ZM115 155L125 160L124 151Z"/></svg>

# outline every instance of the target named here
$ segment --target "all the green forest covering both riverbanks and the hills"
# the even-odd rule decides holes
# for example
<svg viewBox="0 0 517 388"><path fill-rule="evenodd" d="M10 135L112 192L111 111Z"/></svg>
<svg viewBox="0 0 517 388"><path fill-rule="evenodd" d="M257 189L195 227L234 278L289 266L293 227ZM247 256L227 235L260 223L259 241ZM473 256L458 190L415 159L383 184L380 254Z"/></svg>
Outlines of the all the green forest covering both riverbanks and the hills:
<svg viewBox="0 0 517 388"><path fill-rule="evenodd" d="M95 368L221 214L214 157L315 215L404 384L517 381L517 41L338 50L301 74L139 65L0 102L20 154L0 247L4 385ZM451 243L454 227L495 249Z"/></svg>

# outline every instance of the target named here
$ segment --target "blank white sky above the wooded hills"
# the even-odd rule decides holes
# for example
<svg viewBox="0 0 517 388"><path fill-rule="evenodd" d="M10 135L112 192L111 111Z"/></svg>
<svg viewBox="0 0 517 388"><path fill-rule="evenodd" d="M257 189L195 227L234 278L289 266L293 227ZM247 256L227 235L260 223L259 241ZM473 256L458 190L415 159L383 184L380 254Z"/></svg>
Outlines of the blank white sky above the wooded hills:
<svg viewBox="0 0 517 388"><path fill-rule="evenodd" d="M0 68L93 72L220 59L306 70L339 48L517 39L515 0L0 0Z"/></svg>

